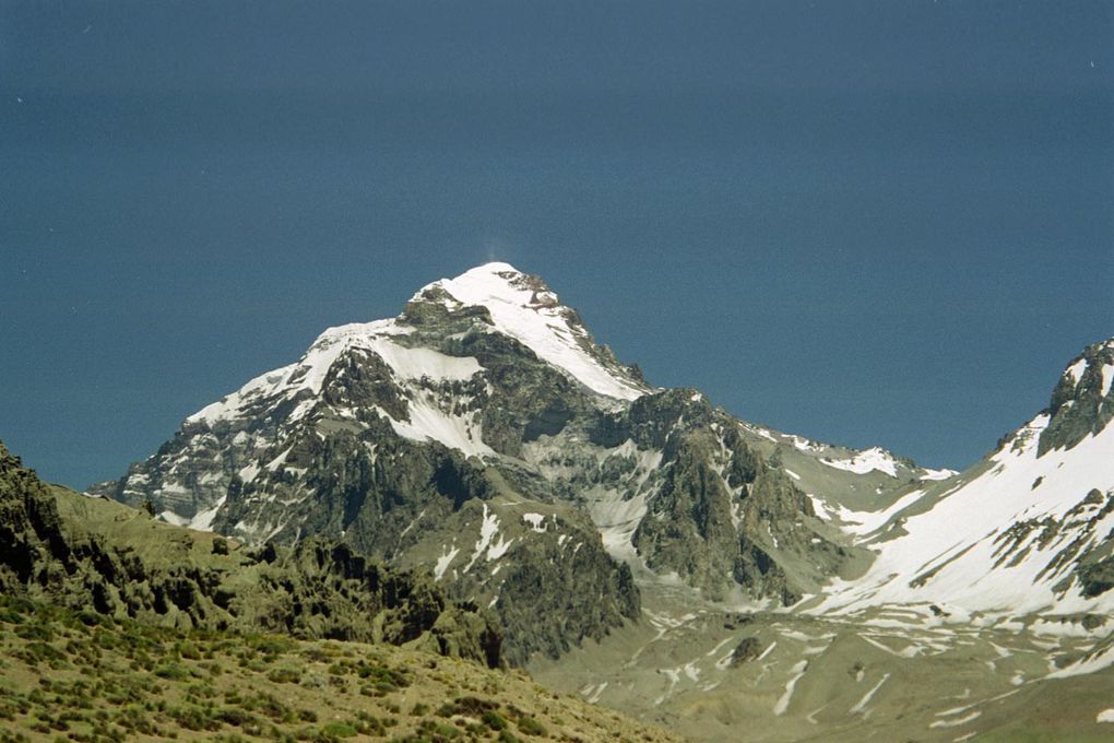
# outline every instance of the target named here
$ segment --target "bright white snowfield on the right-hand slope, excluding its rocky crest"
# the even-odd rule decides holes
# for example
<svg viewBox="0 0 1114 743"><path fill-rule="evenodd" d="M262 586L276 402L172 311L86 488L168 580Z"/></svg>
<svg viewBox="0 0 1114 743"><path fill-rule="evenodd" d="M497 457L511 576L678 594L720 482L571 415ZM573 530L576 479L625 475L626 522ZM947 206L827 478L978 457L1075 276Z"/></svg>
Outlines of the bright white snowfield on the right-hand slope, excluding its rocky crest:
<svg viewBox="0 0 1114 743"><path fill-rule="evenodd" d="M1075 537L1069 529L1048 544L1037 544L1033 534L1023 559L994 567L1001 548L995 539L1005 529L1027 519L1062 519L1092 488L1106 490L1114 485L1114 426L1072 449L1037 458L1038 436L1047 422L1047 416L1034 419L1017 437L1016 447L1005 447L991 458L988 471L927 512L909 516L902 524L906 534L878 545L878 558L863 578L837 581L820 610L925 602L1014 615L1053 607L1058 613L1114 609L1114 593L1086 598L1075 585L1057 596L1053 585L1063 579L1062 570L1039 575ZM1038 478L1040 485L1034 488ZM887 509L886 515L897 512ZM1114 514L1108 514L1094 534L1104 536L1112 528ZM920 581L911 585L918 577Z"/></svg>

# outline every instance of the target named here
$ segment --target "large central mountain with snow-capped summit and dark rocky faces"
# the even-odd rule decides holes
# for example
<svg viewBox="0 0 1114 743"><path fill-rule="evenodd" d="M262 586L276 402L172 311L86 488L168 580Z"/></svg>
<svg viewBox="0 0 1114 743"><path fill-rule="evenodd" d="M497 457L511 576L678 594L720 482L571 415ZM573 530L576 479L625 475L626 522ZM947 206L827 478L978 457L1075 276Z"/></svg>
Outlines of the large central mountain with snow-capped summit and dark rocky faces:
<svg viewBox="0 0 1114 743"><path fill-rule="evenodd" d="M490 607L508 654L638 615L635 574L792 603L844 548L693 390L654 390L539 278L489 264L334 327L116 482L253 544L342 538Z"/></svg>

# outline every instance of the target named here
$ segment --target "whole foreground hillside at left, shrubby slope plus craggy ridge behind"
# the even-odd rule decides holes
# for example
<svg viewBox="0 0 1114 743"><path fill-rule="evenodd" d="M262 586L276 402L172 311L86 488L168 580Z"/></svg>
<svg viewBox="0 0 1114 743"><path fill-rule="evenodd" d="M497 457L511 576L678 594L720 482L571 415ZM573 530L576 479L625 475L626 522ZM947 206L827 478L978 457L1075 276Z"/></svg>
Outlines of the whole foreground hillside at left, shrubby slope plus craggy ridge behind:
<svg viewBox="0 0 1114 743"><path fill-rule="evenodd" d="M0 740L676 740L540 694L498 639L345 545L246 549L0 443Z"/></svg>

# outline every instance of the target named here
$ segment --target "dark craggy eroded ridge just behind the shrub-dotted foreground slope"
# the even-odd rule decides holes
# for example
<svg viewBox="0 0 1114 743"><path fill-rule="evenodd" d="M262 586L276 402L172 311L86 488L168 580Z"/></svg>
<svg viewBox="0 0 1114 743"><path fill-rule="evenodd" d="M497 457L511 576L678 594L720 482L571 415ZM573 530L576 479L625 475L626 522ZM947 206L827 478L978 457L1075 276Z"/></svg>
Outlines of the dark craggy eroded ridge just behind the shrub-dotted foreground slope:
<svg viewBox="0 0 1114 743"><path fill-rule="evenodd" d="M349 545L250 549L52 490L0 443L0 588L157 624L411 644L501 664L501 633Z"/></svg>

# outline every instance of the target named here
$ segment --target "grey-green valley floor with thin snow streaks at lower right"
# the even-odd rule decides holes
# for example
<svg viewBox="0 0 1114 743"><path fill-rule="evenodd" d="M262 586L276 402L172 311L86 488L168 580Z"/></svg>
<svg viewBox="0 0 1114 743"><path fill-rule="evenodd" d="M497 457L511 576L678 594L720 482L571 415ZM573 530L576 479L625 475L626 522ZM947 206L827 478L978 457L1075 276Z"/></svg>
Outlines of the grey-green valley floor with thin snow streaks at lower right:
<svg viewBox="0 0 1114 743"><path fill-rule="evenodd" d="M1114 739L1114 668L1048 677L1094 637L905 608L725 612L643 590L641 622L535 661L538 682L695 741Z"/></svg>

